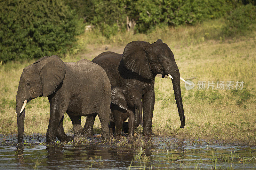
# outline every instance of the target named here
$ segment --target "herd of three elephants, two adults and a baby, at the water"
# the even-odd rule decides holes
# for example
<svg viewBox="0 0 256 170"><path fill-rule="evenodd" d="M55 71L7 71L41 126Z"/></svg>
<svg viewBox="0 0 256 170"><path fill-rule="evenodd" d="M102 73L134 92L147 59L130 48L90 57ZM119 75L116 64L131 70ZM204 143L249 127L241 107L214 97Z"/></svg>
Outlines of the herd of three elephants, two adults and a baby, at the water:
<svg viewBox="0 0 256 170"><path fill-rule="evenodd" d="M143 135L152 135L156 74L172 78L180 128L183 128L185 117L180 92L180 79L183 79L171 49L161 39L152 44L132 41L123 54L104 52L92 61L68 63L56 55L44 56L25 67L20 76L16 96L18 143L23 140L26 103L38 96L47 96L50 103L47 144L56 137L60 141L74 139L64 132L65 113L72 121L74 136L92 137L97 115L102 139L120 136L127 118L129 137L139 125L143 127ZM87 116L84 128L81 116Z"/></svg>

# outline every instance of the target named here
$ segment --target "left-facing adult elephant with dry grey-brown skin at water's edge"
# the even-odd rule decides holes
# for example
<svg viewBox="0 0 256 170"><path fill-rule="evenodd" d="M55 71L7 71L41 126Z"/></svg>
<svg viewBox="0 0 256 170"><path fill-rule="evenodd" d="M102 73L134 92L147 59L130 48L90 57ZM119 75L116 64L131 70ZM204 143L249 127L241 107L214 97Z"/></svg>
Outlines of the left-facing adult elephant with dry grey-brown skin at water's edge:
<svg viewBox="0 0 256 170"><path fill-rule="evenodd" d="M71 141L63 129L63 115L67 112L74 132L82 133L81 116L98 114L102 138L108 138L111 87L106 72L89 60L64 63L58 56L44 56L25 67L20 76L16 96L18 143L22 143L25 109L20 113L25 100L30 102L38 96L48 96L50 120L46 143Z"/></svg>

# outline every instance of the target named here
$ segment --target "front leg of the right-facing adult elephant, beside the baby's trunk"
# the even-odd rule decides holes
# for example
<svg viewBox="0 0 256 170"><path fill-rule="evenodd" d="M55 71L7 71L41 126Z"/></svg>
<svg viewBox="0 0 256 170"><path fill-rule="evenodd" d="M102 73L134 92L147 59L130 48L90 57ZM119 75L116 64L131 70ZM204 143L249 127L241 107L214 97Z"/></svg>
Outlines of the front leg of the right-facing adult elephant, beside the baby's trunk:
<svg viewBox="0 0 256 170"><path fill-rule="evenodd" d="M142 107L143 107L142 134L144 136L154 135L154 133L152 132L152 118L153 118L154 105L155 105L155 91L154 91L154 84L153 84L153 90L148 91L146 94L144 94L142 98Z"/></svg>

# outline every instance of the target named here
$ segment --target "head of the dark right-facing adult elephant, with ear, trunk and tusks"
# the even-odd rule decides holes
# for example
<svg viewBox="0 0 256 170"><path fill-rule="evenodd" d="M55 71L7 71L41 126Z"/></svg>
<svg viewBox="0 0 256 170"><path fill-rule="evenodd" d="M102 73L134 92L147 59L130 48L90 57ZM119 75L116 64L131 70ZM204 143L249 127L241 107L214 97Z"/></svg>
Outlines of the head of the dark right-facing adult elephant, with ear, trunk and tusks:
<svg viewBox="0 0 256 170"><path fill-rule="evenodd" d="M124 48L122 54L125 67L136 72L145 79L153 80L156 74L168 75L172 78L173 91L180 115L180 128L185 126L185 117L180 92L179 68L175 62L171 49L158 39L149 44L145 41L132 41ZM188 82L186 82L188 83Z"/></svg>

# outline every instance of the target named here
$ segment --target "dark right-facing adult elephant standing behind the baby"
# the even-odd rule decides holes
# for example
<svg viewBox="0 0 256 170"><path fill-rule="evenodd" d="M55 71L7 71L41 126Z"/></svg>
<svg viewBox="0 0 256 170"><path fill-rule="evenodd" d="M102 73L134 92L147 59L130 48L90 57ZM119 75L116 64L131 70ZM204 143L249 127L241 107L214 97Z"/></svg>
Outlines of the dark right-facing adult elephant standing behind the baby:
<svg viewBox="0 0 256 170"><path fill-rule="evenodd" d="M104 52L92 62L100 65L107 73L111 87L126 89L139 86L142 89L143 135L152 135L152 117L155 104L156 74L169 75L180 115L180 128L185 125L185 117L180 92L180 72L171 49L158 39L155 43L132 41L124 48L123 54ZM184 80L184 79L183 79ZM84 129L92 136L95 115L87 116ZM140 121L136 122L138 127Z"/></svg>

